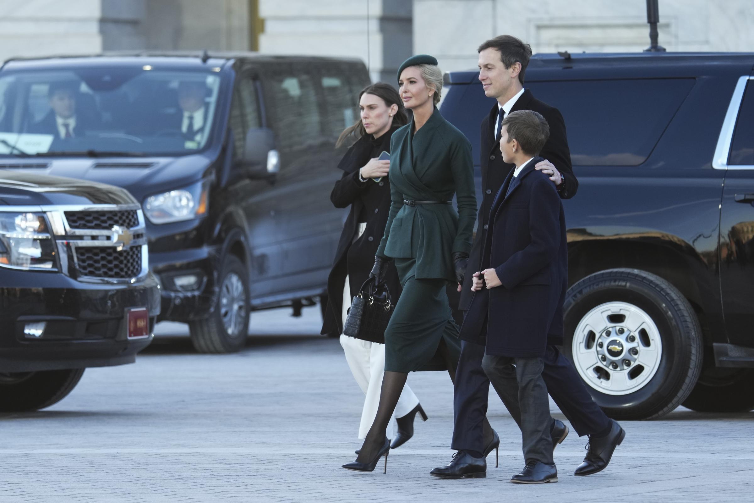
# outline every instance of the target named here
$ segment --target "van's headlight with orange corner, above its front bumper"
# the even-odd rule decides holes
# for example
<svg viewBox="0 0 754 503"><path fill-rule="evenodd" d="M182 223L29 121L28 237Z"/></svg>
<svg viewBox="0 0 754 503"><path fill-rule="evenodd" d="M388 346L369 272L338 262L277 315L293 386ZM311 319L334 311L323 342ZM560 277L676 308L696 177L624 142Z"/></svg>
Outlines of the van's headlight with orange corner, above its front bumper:
<svg viewBox="0 0 754 503"><path fill-rule="evenodd" d="M150 195L144 201L144 214L152 223L181 222L207 213L209 180L184 189Z"/></svg>

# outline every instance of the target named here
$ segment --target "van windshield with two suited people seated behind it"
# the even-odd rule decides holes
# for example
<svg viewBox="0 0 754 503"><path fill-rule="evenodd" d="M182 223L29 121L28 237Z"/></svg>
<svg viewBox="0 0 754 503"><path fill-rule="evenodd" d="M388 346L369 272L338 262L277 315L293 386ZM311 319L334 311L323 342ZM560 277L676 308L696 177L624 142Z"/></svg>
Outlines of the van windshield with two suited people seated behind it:
<svg viewBox="0 0 754 503"><path fill-rule="evenodd" d="M2 72L0 155L197 152L219 83L216 71L149 65Z"/></svg>

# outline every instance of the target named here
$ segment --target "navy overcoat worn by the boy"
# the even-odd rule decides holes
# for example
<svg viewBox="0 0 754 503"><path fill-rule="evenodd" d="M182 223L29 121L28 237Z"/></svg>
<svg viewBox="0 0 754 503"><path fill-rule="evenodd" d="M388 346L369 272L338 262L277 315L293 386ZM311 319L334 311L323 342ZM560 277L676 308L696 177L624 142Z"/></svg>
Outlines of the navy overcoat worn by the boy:
<svg viewBox="0 0 754 503"><path fill-rule="evenodd" d="M553 182L534 169L541 160L509 173L492 202L481 268L495 268L502 285L472 293L460 333L471 342L486 336L486 354L541 357L562 345L566 218Z"/></svg>

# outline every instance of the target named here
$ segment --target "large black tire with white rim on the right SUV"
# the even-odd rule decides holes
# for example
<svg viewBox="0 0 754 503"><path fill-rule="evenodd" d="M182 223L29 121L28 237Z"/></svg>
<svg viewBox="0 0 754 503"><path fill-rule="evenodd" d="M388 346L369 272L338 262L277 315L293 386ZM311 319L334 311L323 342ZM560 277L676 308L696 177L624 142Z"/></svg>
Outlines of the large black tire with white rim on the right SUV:
<svg viewBox="0 0 754 503"><path fill-rule="evenodd" d="M565 354L611 418L657 419L697 382L699 321L657 275L618 268L587 276L566 294L564 324Z"/></svg>

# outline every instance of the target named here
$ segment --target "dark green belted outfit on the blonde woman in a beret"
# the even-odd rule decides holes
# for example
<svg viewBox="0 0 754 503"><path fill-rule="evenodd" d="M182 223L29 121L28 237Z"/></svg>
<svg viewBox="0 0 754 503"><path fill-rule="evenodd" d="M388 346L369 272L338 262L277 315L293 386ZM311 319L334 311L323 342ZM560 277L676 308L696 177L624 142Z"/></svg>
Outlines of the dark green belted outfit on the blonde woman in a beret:
<svg viewBox="0 0 754 503"><path fill-rule="evenodd" d="M461 351L446 293L458 283L452 254L469 253L477 219L471 144L435 107L416 133L413 120L393 133L389 176L390 214L377 254L394 259L403 293L385 330L385 370L448 370L440 344L454 366ZM458 211L404 204L453 195Z"/></svg>

